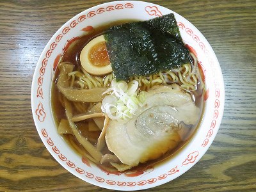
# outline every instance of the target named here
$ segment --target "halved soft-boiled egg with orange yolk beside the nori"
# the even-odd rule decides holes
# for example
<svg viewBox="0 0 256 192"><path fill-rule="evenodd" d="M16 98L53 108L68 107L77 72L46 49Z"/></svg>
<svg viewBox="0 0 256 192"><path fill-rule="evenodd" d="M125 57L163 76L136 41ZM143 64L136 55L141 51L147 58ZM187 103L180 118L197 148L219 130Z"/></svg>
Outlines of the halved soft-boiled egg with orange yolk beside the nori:
<svg viewBox="0 0 256 192"><path fill-rule="evenodd" d="M93 38L84 46L80 54L81 66L93 75L104 75L112 72L106 40L103 35Z"/></svg>

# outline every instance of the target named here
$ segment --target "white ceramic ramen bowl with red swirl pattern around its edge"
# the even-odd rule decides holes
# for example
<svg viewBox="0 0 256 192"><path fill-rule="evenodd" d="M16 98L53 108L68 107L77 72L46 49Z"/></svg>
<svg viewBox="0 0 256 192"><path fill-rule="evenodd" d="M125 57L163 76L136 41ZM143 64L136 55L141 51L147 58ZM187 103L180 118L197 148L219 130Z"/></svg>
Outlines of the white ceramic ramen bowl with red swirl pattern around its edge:
<svg viewBox="0 0 256 192"><path fill-rule="evenodd" d="M143 173L106 173L92 163L83 163L58 135L51 111L50 90L53 68L72 38L84 34L86 27L120 19L148 20L174 13L181 36L195 49L205 74L205 113L195 136L175 157ZM102 188L139 190L159 186L189 170L205 154L220 127L224 107L224 85L220 65L211 45L188 20L157 4L141 1L115 1L94 6L68 20L45 46L33 76L31 105L36 129L45 147L68 172ZM133 177L131 177L133 176Z"/></svg>

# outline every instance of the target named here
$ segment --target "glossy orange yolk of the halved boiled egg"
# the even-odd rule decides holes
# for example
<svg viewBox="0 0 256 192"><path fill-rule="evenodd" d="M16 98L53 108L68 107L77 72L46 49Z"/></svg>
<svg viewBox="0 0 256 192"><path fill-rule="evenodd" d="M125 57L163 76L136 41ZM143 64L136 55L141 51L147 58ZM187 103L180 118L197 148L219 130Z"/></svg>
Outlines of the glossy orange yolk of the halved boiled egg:
<svg viewBox="0 0 256 192"><path fill-rule="evenodd" d="M108 51L105 42L100 42L90 49L88 59L97 67L104 67L110 64Z"/></svg>

